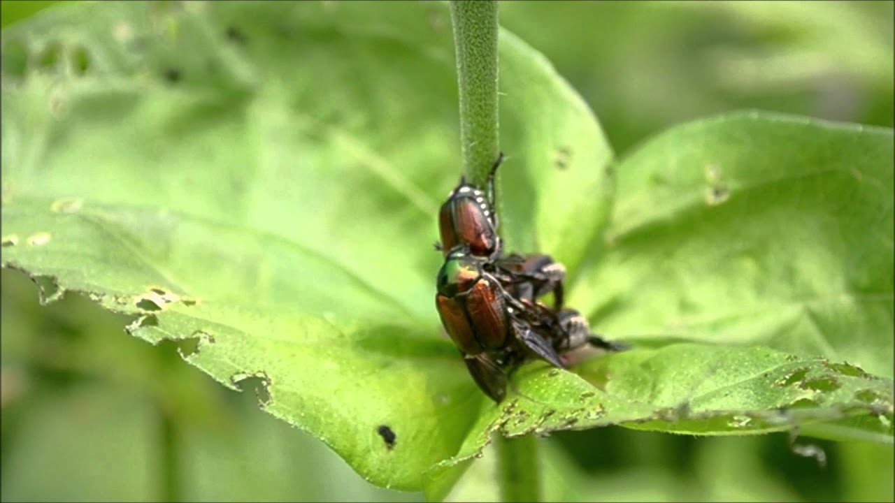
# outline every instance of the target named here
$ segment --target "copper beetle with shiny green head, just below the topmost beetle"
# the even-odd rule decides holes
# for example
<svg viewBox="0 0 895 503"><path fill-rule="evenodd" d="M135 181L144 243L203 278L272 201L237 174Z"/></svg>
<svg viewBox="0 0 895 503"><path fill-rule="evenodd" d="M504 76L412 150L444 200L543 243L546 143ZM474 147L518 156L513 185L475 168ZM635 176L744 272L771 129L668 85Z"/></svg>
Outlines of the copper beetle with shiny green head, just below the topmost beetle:
<svg viewBox="0 0 895 503"><path fill-rule="evenodd" d="M551 342L524 320L525 304L484 269L488 263L466 247L455 247L439 269L435 305L476 384L499 402L506 388L500 365L508 356L525 351L564 365Z"/></svg>

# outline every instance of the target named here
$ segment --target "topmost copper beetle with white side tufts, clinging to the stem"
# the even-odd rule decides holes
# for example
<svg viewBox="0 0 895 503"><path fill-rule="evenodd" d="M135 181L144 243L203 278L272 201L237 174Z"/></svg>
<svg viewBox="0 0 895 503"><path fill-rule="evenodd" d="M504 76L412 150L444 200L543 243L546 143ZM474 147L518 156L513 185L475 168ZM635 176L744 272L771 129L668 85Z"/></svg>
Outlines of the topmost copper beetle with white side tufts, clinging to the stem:
<svg viewBox="0 0 895 503"><path fill-rule="evenodd" d="M498 156L488 173L485 192L472 183L466 183L464 176L460 183L447 195L447 200L439 209L439 234L441 243L436 249L445 257L456 246L466 245L469 251L479 257L493 258L500 253L500 237L497 232L498 216L494 211L494 174L503 161L503 153Z"/></svg>

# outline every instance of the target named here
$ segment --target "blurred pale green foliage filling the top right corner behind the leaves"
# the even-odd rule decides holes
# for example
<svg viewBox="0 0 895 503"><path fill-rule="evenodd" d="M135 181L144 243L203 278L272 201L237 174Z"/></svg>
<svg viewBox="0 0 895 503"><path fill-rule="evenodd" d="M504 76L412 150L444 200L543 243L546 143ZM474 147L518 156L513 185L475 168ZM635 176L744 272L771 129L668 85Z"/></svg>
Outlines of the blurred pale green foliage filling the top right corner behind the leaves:
<svg viewBox="0 0 895 503"><path fill-rule="evenodd" d="M673 124L762 108L892 125L891 2L507 2L618 152Z"/></svg>

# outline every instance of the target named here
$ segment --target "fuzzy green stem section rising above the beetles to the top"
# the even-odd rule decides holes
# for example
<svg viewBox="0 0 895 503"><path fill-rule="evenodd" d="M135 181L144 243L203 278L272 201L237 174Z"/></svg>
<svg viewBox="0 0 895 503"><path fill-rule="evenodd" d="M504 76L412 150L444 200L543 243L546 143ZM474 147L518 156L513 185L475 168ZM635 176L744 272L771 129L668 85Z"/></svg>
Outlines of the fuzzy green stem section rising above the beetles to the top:
<svg viewBox="0 0 895 503"><path fill-rule="evenodd" d="M460 143L466 178L482 187L498 158L498 3L452 0Z"/></svg>

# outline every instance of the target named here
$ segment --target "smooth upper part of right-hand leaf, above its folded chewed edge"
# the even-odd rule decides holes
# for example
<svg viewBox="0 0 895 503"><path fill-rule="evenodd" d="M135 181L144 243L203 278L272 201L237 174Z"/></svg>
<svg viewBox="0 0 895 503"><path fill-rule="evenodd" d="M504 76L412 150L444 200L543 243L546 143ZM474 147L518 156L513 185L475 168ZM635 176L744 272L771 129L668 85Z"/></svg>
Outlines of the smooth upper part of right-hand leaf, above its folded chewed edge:
<svg viewBox="0 0 895 503"><path fill-rule="evenodd" d="M572 305L603 333L763 344L893 373L892 132L770 114L674 128L618 166Z"/></svg>

